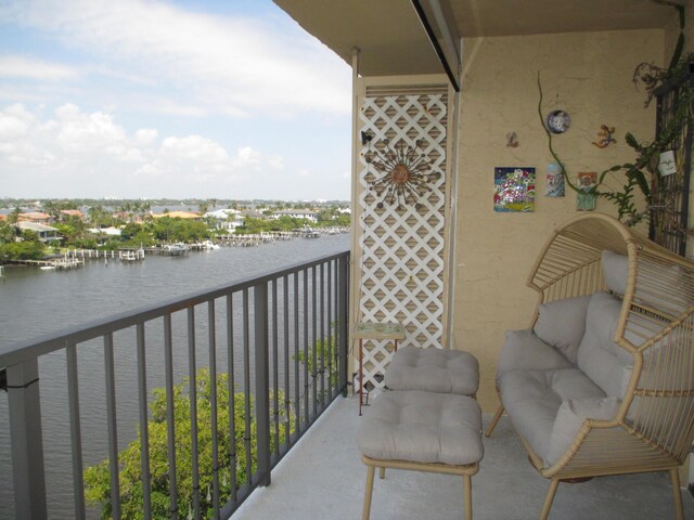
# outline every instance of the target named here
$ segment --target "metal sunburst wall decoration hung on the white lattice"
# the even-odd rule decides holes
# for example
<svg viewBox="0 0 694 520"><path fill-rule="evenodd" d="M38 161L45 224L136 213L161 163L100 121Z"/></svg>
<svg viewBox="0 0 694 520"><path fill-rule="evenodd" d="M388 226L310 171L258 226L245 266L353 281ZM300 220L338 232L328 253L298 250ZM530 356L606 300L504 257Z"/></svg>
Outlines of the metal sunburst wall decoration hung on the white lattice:
<svg viewBox="0 0 694 520"><path fill-rule="evenodd" d="M398 209L403 209L407 204L414 204L414 208L420 209L420 199L432 191L430 183L441 177L440 172L432 171L430 160L419 151L421 141L410 146L400 140L390 146L390 140L384 139L383 150L371 150L370 138L371 135L365 139L369 152L364 154L364 160L381 174L368 182L369 190L375 193L376 208L382 209L386 203L397 204Z"/></svg>

